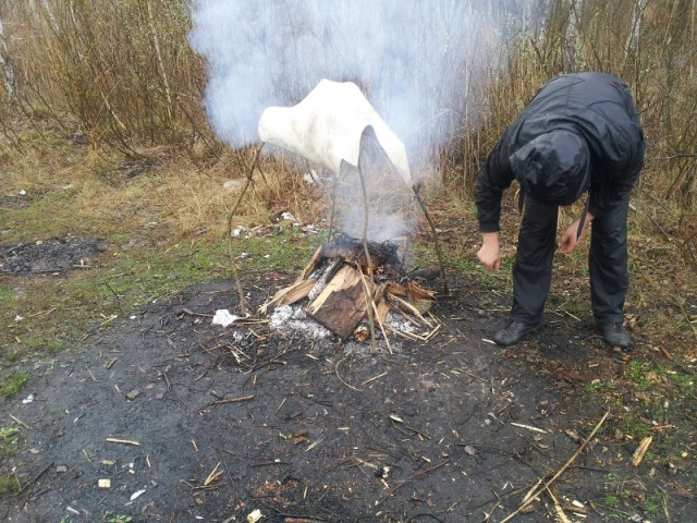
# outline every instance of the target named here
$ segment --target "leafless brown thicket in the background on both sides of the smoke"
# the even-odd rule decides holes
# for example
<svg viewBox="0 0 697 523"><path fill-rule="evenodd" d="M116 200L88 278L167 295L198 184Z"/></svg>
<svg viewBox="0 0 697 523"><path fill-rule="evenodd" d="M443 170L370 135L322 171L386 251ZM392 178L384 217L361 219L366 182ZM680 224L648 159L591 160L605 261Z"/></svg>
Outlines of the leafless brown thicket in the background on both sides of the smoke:
<svg viewBox="0 0 697 523"><path fill-rule="evenodd" d="M424 20L453 24L452 13L467 15L452 5L438 2L424 11ZM648 145L637 193L643 209L660 214L655 200L667 199L673 221L689 223L697 206L695 1L548 0L518 7L527 21L524 33L505 33L505 45L487 63L458 63L438 78L438 89L466 93L452 96L442 114L417 130L428 136L452 127L430 154L440 159L442 185L467 195L501 131L546 80L600 70L629 85L641 114ZM201 104L205 65L187 42L189 8L186 0L0 2L0 129L21 146L13 124L20 111L54 119L95 149L110 146L137 156L143 145L183 144L198 166L219 161L224 147L212 136ZM500 16L493 4L486 9ZM482 42L487 38L477 35ZM298 100L307 86L290 88L303 90L290 96ZM419 93L436 96L426 86ZM231 169L245 171L244 155L233 155L233 161ZM285 181L279 194L298 190ZM678 233L684 229L676 226Z"/></svg>

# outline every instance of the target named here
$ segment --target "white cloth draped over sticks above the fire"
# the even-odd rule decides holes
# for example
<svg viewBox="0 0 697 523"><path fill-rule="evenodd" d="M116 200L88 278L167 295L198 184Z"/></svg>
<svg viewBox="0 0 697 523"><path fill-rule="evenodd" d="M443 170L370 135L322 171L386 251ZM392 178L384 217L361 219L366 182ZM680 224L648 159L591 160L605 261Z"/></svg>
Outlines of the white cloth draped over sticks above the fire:
<svg viewBox="0 0 697 523"><path fill-rule="evenodd" d="M358 166L360 137L372 127L378 143L412 187L413 180L402 141L384 123L352 82L321 80L293 107L268 107L261 113L259 138L302 155L334 173L341 161Z"/></svg>

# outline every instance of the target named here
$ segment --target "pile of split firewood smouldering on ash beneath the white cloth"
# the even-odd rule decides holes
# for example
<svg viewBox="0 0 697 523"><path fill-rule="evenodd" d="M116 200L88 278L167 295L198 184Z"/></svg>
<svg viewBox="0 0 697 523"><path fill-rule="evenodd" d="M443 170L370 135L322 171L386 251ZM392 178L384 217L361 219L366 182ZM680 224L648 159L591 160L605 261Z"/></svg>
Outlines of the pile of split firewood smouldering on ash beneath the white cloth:
<svg viewBox="0 0 697 523"><path fill-rule="evenodd" d="M440 329L430 313L435 292L404 273L398 253L399 246L390 241L364 243L339 234L320 245L295 282L277 292L260 312L305 301L305 313L344 340L353 336L364 341L369 336L366 324L374 320L386 338L393 332L429 341Z"/></svg>

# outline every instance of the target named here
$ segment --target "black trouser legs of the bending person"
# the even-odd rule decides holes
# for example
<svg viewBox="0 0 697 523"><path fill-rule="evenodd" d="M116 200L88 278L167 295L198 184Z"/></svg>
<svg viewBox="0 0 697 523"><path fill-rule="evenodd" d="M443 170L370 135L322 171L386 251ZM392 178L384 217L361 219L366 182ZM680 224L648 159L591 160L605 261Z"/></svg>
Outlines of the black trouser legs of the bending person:
<svg viewBox="0 0 697 523"><path fill-rule="evenodd" d="M622 323L624 299L629 287L627 270L627 209L629 195L590 227L590 303L598 324ZM557 248L559 207L526 198L518 246L513 264L513 307L511 319L542 320L545 302L552 281Z"/></svg>

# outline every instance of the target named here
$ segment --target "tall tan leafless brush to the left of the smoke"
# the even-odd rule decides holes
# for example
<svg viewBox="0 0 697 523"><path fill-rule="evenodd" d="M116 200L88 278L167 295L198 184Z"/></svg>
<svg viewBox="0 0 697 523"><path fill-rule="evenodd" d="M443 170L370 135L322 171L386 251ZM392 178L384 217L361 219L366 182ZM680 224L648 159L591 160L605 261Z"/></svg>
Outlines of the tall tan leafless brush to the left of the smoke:
<svg viewBox="0 0 697 523"><path fill-rule="evenodd" d="M13 2L1 14L25 111L76 117L95 147L206 133L203 64L186 44L187 2Z"/></svg>

